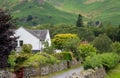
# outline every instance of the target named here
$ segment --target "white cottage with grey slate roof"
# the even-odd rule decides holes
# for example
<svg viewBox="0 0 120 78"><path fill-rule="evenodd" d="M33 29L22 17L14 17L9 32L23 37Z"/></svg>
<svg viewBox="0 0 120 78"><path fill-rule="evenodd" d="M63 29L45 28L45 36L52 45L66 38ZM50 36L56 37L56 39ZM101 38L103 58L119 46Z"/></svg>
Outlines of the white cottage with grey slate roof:
<svg viewBox="0 0 120 78"><path fill-rule="evenodd" d="M16 41L17 50L23 44L31 44L34 52L42 51L44 42L48 42L49 46L51 45L49 30L30 30L20 27L15 31L15 35L19 36Z"/></svg>

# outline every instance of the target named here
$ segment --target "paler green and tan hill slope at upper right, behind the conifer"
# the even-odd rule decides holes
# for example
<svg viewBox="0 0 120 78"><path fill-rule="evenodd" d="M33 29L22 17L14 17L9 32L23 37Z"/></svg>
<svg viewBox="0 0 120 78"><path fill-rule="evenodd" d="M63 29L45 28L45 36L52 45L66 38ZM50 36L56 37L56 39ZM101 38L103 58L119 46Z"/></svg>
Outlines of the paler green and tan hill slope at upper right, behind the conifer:
<svg viewBox="0 0 120 78"><path fill-rule="evenodd" d="M89 20L118 25L120 20L119 0L47 0L58 9L71 13L81 13Z"/></svg>

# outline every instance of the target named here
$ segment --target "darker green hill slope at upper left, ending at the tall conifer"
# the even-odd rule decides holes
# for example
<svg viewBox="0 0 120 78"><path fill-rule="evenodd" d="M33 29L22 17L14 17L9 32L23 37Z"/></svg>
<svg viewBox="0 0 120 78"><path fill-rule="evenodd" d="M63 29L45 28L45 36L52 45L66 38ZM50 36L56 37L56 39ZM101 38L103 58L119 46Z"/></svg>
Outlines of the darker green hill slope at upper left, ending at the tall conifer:
<svg viewBox="0 0 120 78"><path fill-rule="evenodd" d="M48 2L42 0L10 0L2 1L8 3L5 7L12 10L14 18L18 18L18 25L29 26L37 24L75 24L76 15L56 9ZM2 5L4 6L4 5Z"/></svg>

